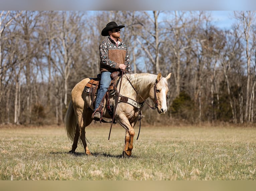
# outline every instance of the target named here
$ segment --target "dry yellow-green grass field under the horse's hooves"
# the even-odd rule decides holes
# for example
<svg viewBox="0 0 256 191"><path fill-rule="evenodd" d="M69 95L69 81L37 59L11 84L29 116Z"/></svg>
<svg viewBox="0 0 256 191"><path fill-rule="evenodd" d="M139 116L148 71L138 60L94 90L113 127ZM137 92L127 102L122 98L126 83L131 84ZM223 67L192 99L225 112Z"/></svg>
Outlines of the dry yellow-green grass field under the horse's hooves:
<svg viewBox="0 0 256 191"><path fill-rule="evenodd" d="M109 127L87 127L92 156L68 153L64 127L0 127L0 180L256 180L255 127L142 125L130 158Z"/></svg>

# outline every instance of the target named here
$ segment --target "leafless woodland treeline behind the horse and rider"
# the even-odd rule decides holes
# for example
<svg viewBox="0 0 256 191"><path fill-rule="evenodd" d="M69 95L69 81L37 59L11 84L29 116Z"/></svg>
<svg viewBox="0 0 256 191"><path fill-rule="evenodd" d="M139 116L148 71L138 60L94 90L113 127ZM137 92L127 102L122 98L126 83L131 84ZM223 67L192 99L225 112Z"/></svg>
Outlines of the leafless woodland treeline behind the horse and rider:
<svg viewBox="0 0 256 191"><path fill-rule="evenodd" d="M144 122L255 123L256 15L231 16L222 29L208 11L0 11L0 124L61 124L110 21L134 73L172 73L168 112L145 106Z"/></svg>

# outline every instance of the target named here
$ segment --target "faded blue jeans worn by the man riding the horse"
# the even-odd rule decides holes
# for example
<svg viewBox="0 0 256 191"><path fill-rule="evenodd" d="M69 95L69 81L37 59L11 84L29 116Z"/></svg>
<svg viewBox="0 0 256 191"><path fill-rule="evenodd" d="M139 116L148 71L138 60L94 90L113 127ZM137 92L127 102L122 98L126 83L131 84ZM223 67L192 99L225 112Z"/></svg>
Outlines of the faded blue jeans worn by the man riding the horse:
<svg viewBox="0 0 256 191"><path fill-rule="evenodd" d="M111 72L101 73L101 82L100 82L101 84L100 84L100 89L98 90L94 111L99 107L103 96L105 95L105 93L108 90L108 87L110 86L110 83L111 83L110 75L111 75Z"/></svg>

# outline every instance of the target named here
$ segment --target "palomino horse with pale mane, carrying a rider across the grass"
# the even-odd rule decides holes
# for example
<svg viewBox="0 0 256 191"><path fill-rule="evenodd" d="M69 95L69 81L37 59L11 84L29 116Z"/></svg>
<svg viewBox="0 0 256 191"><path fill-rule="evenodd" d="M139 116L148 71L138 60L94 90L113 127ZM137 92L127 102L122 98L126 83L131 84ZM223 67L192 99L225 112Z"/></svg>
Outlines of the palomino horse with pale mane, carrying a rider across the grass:
<svg viewBox="0 0 256 191"><path fill-rule="evenodd" d="M168 83L167 80L170 78L171 73L166 78L162 77L161 73L158 75L154 74L127 74L123 76L120 94L119 96L125 96L130 98L135 104L129 104L127 102L118 101L115 120L125 128L125 143L123 156L131 156L133 148L133 137L134 137L134 125L138 121L138 114L140 109L134 105L140 105L148 97L153 100L156 105L157 111L160 114L164 114L167 111L167 92ZM85 137L85 127L88 126L92 121L92 99L84 91L85 85L90 81L90 78L86 78L79 82L71 92L71 102L65 116L65 128L69 139L74 140L72 150L70 153L75 153L77 148L79 136L83 143L85 153L91 154L88 149ZM119 90L120 83L117 86ZM110 103L115 105L117 94L110 97ZM103 107L103 117L110 118L108 110L106 109L106 101Z"/></svg>

